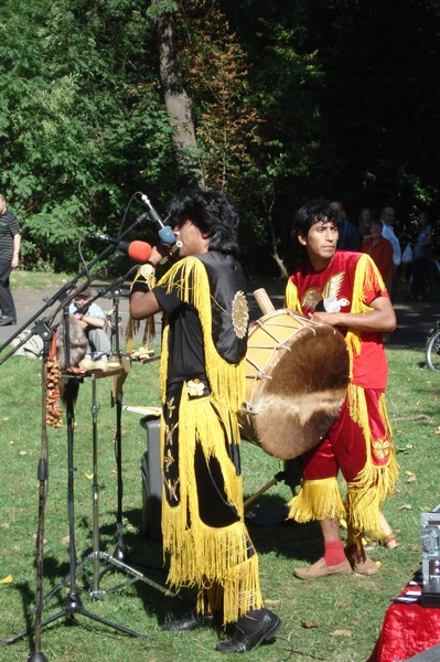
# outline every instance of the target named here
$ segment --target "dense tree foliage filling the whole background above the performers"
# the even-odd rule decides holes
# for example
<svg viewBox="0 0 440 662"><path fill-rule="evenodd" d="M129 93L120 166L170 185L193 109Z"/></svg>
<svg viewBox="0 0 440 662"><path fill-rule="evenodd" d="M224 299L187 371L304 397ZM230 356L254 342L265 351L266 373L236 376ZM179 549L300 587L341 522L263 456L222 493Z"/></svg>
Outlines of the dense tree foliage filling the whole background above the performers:
<svg viewBox="0 0 440 662"><path fill-rule="evenodd" d="M184 154L159 81L163 15L193 104ZM293 211L321 194L352 220L394 204L409 236L409 214L440 210L439 28L438 0L4 0L0 186L26 266L72 268L82 233L118 232L135 191L163 210L200 170L237 206L249 267L291 259Z"/></svg>

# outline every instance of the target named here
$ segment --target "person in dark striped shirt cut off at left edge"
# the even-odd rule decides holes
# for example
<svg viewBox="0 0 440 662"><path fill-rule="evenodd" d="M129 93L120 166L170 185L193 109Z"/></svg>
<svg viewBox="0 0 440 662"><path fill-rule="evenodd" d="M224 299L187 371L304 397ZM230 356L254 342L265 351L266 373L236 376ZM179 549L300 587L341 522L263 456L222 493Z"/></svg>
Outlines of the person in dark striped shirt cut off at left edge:
<svg viewBox="0 0 440 662"><path fill-rule="evenodd" d="M9 277L12 269L19 266L20 246L20 223L8 210L4 195L0 195L0 327L17 324Z"/></svg>

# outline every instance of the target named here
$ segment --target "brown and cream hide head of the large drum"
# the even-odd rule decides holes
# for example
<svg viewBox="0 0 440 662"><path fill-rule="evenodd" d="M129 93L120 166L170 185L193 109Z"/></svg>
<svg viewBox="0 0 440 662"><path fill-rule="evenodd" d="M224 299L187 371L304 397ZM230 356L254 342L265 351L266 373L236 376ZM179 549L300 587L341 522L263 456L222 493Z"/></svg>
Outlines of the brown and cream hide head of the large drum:
<svg viewBox="0 0 440 662"><path fill-rule="evenodd" d="M292 459L316 446L337 417L348 384L345 340L332 327L302 321L267 372L239 417L243 436L269 455Z"/></svg>

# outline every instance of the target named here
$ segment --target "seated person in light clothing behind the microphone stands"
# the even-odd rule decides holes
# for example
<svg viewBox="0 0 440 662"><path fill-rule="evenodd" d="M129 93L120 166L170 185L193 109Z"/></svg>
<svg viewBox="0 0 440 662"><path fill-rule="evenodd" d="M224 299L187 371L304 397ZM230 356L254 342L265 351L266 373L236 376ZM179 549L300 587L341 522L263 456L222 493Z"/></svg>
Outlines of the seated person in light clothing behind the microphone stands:
<svg viewBox="0 0 440 662"><path fill-rule="evenodd" d="M78 292L69 306L69 313L79 320L84 333L87 337L88 350L93 357L109 355L111 351L110 340L107 335L107 314L97 303L92 302L92 290L83 289Z"/></svg>

